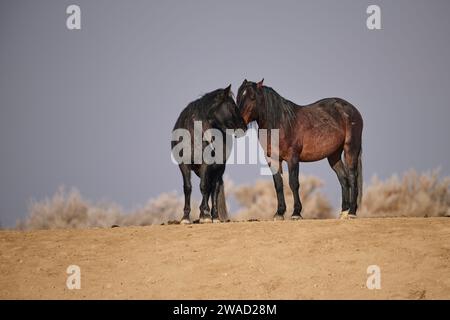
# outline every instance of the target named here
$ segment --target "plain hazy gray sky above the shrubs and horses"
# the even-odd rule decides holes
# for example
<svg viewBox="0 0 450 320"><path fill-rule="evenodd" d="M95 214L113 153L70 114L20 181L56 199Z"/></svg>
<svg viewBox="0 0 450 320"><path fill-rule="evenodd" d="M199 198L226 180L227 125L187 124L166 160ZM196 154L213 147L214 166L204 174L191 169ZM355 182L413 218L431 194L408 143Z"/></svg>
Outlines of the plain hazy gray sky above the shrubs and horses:
<svg viewBox="0 0 450 320"><path fill-rule="evenodd" d="M66 28L69 4L81 7L79 31ZM366 28L369 4L382 30ZM59 185L126 209L181 193L169 143L179 112L244 78L299 104L357 106L366 181L449 175L449 14L445 0L1 1L0 221L13 225ZM326 160L300 168L338 205ZM261 178L256 165L227 174Z"/></svg>

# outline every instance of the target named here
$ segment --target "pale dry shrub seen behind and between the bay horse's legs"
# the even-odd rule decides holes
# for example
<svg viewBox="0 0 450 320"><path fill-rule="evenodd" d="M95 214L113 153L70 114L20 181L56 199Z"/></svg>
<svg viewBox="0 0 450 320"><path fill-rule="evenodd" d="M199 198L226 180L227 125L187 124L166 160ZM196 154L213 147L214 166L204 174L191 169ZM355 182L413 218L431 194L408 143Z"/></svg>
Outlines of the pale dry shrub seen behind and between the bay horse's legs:
<svg viewBox="0 0 450 320"><path fill-rule="evenodd" d="M313 176L300 175L300 199L304 218L332 218L333 209L330 202L318 190L323 186L320 179ZM283 188L287 210L290 215L294 199L288 179L283 176ZM230 188L232 195L242 207L233 218L236 220L271 220L277 210L277 197L272 179L258 180L253 185Z"/></svg>

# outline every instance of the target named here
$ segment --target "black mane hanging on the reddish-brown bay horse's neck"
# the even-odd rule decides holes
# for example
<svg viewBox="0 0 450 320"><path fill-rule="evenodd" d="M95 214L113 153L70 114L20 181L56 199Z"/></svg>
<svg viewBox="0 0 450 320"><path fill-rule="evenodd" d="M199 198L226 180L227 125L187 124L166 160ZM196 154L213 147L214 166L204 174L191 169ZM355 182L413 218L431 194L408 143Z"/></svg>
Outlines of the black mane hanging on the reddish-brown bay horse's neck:
<svg viewBox="0 0 450 320"><path fill-rule="evenodd" d="M271 87L263 87L264 105L259 106L258 114L267 129L290 129L295 120L294 102L280 96Z"/></svg>

